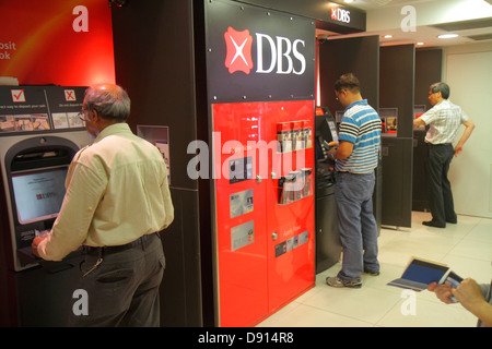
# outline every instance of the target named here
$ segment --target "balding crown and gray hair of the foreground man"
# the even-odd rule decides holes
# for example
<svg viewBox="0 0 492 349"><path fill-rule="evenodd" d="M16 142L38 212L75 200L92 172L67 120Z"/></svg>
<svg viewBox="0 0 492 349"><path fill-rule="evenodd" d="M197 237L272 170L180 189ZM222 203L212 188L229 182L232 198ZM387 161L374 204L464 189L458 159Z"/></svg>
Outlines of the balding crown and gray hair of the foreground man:
<svg viewBox="0 0 492 349"><path fill-rule="evenodd" d="M106 120L120 122L130 116L130 97L118 85L96 84L85 91L85 109L95 110Z"/></svg>

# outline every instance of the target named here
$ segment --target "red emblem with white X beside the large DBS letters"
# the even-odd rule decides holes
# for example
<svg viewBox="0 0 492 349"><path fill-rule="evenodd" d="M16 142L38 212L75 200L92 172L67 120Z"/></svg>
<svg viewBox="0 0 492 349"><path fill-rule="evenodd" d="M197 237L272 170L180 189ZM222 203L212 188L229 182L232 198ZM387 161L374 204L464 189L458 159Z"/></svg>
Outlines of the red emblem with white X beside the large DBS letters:
<svg viewBox="0 0 492 349"><path fill-rule="evenodd" d="M225 56L225 67L232 74L242 71L246 74L253 69L251 45L253 37L249 31L237 32L232 27L224 33L227 53Z"/></svg>

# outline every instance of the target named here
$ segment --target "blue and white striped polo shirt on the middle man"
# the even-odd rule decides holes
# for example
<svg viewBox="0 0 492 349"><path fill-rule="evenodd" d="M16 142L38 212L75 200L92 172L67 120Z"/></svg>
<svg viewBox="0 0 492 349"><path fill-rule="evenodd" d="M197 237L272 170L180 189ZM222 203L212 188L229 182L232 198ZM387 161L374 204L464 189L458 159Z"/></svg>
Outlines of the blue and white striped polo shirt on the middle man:
<svg viewBox="0 0 492 349"><path fill-rule="evenodd" d="M351 173L371 173L380 154L380 118L366 99L347 107L340 123L339 139L353 143L352 154L337 160L336 170Z"/></svg>

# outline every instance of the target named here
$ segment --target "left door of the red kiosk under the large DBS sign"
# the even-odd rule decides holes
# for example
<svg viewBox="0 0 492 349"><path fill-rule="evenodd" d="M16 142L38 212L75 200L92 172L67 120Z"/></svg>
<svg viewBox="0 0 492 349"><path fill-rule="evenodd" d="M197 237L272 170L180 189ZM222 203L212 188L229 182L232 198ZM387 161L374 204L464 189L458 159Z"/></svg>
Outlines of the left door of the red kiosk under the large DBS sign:
<svg viewBox="0 0 492 349"><path fill-rule="evenodd" d="M265 183L257 181L258 110L213 105L216 297L221 326L247 326L268 312Z"/></svg>

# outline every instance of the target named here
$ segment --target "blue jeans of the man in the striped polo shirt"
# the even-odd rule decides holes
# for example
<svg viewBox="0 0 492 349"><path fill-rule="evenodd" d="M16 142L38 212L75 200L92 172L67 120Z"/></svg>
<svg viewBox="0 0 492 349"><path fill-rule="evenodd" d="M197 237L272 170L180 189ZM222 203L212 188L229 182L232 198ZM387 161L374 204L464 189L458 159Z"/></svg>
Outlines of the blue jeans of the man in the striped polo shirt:
<svg viewBox="0 0 492 349"><path fill-rule="evenodd" d="M338 172L336 183L335 198L343 251L338 277L350 281L364 272L379 272L377 225L373 214L375 174Z"/></svg>

